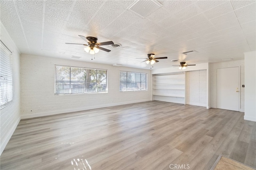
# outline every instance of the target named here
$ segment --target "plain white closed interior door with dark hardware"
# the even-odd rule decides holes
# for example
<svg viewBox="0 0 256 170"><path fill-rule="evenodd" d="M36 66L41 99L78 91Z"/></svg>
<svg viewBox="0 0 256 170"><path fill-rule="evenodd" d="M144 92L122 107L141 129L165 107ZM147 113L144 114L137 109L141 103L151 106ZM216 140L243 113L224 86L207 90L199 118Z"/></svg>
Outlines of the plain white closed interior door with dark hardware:
<svg viewBox="0 0 256 170"><path fill-rule="evenodd" d="M239 111L239 67L217 69L217 108Z"/></svg>

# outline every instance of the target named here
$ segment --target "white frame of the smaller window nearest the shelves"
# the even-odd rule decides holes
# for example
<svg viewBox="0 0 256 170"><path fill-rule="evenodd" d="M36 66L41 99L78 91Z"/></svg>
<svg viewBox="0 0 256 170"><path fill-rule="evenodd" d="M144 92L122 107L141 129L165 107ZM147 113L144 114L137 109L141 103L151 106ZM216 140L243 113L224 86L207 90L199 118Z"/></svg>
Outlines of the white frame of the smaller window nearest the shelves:
<svg viewBox="0 0 256 170"><path fill-rule="evenodd" d="M122 82L121 81L121 73L126 73L126 81L125 82ZM134 74L140 74L140 89L132 89L132 90L128 90L128 85L127 85L127 83L128 83L128 81L127 81L127 74L128 73L134 73ZM142 82L141 81L141 75L145 75L145 78L146 78L146 81L145 82ZM119 91L120 92L124 92L124 91L147 91L148 90L148 73L138 73L138 72L134 72L134 71L120 71L120 73L119 73ZM135 76L135 75L134 75ZM126 83L126 90L122 90L122 88L121 88L121 84L122 83ZM132 83L132 81L130 82L130 83ZM136 83L136 82L135 82ZM145 83L145 88L144 89L142 89L141 88L141 86L142 86L142 83Z"/></svg>

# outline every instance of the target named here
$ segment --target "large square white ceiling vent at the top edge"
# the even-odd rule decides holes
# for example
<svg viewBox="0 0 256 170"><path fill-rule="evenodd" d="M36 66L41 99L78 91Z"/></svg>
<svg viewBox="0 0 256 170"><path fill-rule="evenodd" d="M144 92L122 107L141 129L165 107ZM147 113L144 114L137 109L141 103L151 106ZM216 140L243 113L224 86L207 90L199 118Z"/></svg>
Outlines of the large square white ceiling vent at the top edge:
<svg viewBox="0 0 256 170"><path fill-rule="evenodd" d="M156 0L136 0L130 6L128 6L127 9L134 12L138 16L145 18L161 6L162 4Z"/></svg>

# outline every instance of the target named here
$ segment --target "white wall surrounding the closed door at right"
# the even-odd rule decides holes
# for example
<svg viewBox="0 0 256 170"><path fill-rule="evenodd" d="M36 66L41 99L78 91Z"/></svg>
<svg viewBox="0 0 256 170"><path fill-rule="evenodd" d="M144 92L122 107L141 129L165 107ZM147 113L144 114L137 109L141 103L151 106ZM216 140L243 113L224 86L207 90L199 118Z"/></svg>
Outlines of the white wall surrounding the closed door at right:
<svg viewBox="0 0 256 170"><path fill-rule="evenodd" d="M225 67L240 66L240 111L244 112L244 60L226 61L221 63L211 63L211 107L216 108L216 69Z"/></svg>

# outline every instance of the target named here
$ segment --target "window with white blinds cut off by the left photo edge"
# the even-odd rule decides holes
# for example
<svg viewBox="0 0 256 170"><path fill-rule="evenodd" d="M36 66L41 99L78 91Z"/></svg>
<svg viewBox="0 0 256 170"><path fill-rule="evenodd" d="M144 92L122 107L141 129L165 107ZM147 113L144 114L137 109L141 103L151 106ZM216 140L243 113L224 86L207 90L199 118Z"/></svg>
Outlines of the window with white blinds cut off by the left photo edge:
<svg viewBox="0 0 256 170"><path fill-rule="evenodd" d="M12 102L12 53L1 41L0 52L0 109Z"/></svg>

